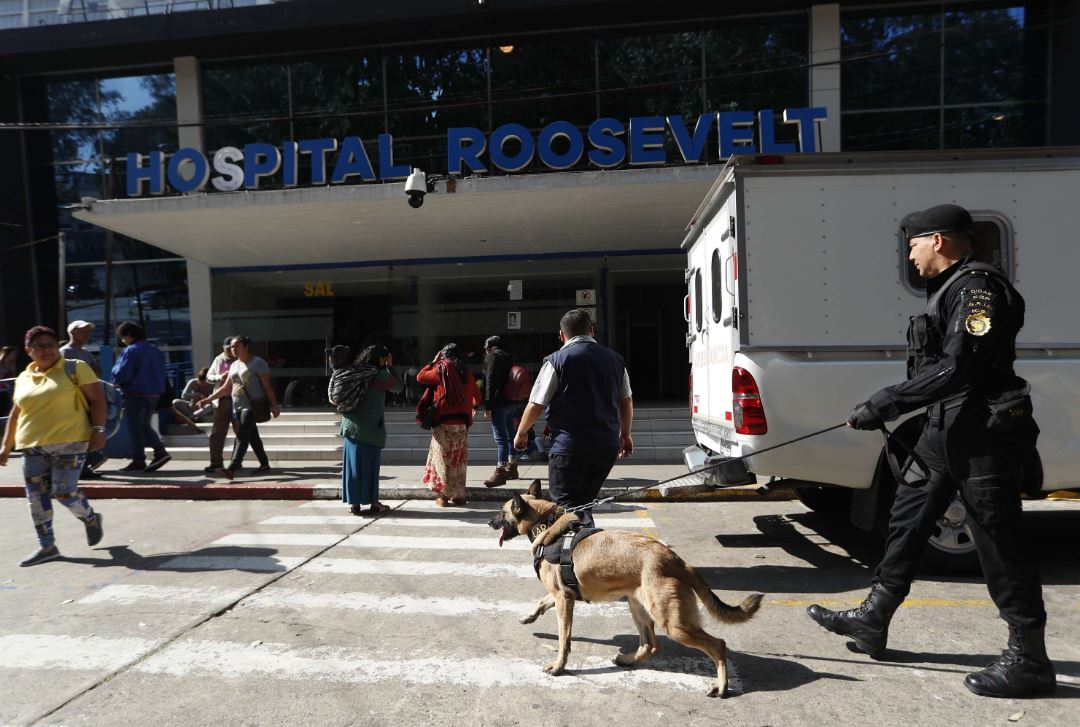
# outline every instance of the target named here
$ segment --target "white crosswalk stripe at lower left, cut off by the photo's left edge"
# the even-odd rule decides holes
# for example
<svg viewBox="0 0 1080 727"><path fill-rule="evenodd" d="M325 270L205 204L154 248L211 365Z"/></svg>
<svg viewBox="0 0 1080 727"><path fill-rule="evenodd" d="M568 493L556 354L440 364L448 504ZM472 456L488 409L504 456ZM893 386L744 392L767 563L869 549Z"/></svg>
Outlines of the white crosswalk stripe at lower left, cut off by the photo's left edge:
<svg viewBox="0 0 1080 727"><path fill-rule="evenodd" d="M120 669L158 642L146 638L102 638L52 634L0 636L2 669Z"/></svg>

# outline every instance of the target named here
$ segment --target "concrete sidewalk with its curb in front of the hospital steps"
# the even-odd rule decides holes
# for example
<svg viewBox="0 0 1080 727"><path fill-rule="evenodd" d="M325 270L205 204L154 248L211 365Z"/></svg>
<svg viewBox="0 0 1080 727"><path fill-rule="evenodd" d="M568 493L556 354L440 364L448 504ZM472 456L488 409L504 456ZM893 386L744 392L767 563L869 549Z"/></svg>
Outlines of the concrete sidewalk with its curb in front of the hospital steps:
<svg viewBox="0 0 1080 727"><path fill-rule="evenodd" d="M198 468L192 468L191 465L193 462L174 460L157 472L133 475L117 472L110 461L105 465L102 472L104 476L83 482L82 488L90 498L329 500L341 496L341 467L337 462L283 462L281 467L274 467L272 473L261 476L245 476L245 471L241 470L232 482L204 474L201 462ZM539 479L546 487L546 462L521 462L518 472L519 480L502 487L488 488L484 486L484 480L491 473L491 465L471 465L467 475L465 495L470 500L501 500L509 498L514 492L524 492L535 479ZM661 494L656 488L627 493L686 473L686 467L683 465L637 463L633 459L619 461L608 475L600 496L624 495L620 499L626 501L788 500L795 497L794 492L786 488L761 495L755 485L714 489L698 484L694 479L675 483L687 486L669 490L666 494ZM422 466L384 465L379 480L379 497L382 499L413 500L434 497L423 484ZM8 467L0 469L0 497L25 497L22 468L17 459L12 459Z"/></svg>

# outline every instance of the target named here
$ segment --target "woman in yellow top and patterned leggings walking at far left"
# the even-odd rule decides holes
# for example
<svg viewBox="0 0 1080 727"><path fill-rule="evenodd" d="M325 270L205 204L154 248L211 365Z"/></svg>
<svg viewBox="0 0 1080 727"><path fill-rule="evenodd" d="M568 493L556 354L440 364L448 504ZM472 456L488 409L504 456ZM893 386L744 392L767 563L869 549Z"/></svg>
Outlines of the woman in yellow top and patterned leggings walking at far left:
<svg viewBox="0 0 1080 727"><path fill-rule="evenodd" d="M86 542L102 541L102 515L79 489L86 453L105 446L106 402L102 383L83 361L68 376L56 332L38 325L26 332L30 365L15 379L15 406L0 447L0 466L12 449L23 453L23 479L40 548L19 565L60 556L53 536L52 498L86 526ZM90 418L86 412L90 412Z"/></svg>

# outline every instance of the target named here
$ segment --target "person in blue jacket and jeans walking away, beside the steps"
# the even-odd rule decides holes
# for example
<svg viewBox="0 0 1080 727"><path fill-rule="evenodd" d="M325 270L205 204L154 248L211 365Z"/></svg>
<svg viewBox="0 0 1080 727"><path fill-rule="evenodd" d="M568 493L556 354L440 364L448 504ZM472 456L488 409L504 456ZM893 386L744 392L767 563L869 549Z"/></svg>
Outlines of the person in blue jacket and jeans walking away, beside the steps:
<svg viewBox="0 0 1080 727"><path fill-rule="evenodd" d="M146 340L146 332L135 321L124 321L117 326L117 335L124 348L112 367L112 382L124 394L124 419L132 437L132 462L121 472L153 472L172 459L165 452L158 432L150 426L150 417L165 390L165 355ZM153 459L146 462L146 445L153 448Z"/></svg>

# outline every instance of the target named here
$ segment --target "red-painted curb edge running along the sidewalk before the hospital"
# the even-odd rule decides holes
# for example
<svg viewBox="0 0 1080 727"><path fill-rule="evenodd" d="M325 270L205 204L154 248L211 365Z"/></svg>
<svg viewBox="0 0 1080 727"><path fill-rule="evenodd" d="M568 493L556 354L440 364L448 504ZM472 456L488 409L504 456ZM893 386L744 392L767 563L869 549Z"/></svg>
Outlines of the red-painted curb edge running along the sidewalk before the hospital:
<svg viewBox="0 0 1080 727"><path fill-rule="evenodd" d="M233 484L164 484L164 483L85 483L80 486L90 499L150 499L150 500L335 500L341 496L339 487L310 483L233 483ZM465 498L476 501L510 499L522 487L465 487ZM793 500L795 490L775 488L759 494L754 486L713 489L708 486L684 487L666 496L657 489L636 493L630 487L605 487L598 497L618 497L623 502L738 502L744 500ZM26 497L22 485L0 485L0 497ZM430 500L426 487L380 487L379 497L388 500Z"/></svg>

